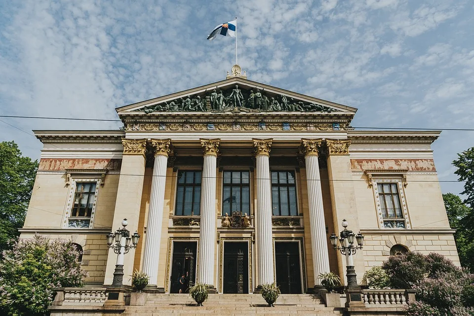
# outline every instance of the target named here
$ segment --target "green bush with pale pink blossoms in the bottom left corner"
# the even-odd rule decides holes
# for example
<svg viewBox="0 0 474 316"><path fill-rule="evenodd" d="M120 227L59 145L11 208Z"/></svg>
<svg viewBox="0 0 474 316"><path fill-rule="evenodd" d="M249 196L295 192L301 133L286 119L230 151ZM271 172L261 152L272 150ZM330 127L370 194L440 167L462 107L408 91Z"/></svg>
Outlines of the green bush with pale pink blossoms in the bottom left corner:
<svg viewBox="0 0 474 316"><path fill-rule="evenodd" d="M35 235L3 251L0 315L45 316L55 287L83 286L79 253L71 242Z"/></svg>

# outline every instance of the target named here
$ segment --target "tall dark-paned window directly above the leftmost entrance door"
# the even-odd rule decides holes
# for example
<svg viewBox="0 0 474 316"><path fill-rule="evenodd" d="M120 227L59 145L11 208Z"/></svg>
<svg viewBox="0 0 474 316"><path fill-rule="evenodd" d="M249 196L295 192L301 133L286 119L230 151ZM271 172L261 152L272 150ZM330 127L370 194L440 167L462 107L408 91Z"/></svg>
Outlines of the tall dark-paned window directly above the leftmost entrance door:
<svg viewBox="0 0 474 316"><path fill-rule="evenodd" d="M199 215L201 200L201 172L178 171L175 215Z"/></svg>

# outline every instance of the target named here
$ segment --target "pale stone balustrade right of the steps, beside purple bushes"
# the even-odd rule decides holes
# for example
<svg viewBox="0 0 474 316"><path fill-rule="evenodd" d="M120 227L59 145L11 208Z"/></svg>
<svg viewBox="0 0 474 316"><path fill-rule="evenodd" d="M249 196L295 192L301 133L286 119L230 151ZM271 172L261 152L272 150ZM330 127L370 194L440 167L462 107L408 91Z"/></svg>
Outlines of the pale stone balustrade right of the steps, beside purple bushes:
<svg viewBox="0 0 474 316"><path fill-rule="evenodd" d="M404 289L366 289L362 291L364 304L367 306L406 305L415 300L413 291Z"/></svg>

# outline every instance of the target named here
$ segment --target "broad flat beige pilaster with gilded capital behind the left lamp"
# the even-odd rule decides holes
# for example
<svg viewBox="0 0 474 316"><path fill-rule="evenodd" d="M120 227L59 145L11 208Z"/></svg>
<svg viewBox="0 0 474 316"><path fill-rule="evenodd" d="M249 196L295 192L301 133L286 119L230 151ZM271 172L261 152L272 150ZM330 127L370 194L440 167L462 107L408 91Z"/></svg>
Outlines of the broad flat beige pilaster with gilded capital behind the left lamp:
<svg viewBox="0 0 474 316"><path fill-rule="evenodd" d="M118 180L117 200L115 204L112 231L121 228L123 218L128 219L127 229L133 233L138 229L138 218L142 200L143 179L145 175L145 147L147 140L122 139L123 156ZM135 249L132 248L125 254L123 262L123 284L130 284L133 273L133 260ZM105 285L112 284L114 278L117 254L109 249L107 267L105 270Z"/></svg>

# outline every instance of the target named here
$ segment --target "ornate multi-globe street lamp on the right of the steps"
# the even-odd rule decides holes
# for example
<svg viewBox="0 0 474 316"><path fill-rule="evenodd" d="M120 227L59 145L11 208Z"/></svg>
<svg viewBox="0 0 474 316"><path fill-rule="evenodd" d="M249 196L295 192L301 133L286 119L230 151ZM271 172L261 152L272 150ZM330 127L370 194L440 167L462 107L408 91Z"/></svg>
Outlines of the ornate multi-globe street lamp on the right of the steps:
<svg viewBox="0 0 474 316"><path fill-rule="evenodd" d="M339 250L342 254L346 255L347 288L358 290L360 289L360 286L357 284L353 255L356 254L357 249L362 249L362 245L364 244L364 236L362 236L360 232L358 234L354 234L353 231L347 229L347 226L347 220L343 219L342 227L344 227L344 230L341 231L339 236L340 246L337 245L338 238L336 234L333 233L330 239L334 249ZM354 245L354 239L356 239L357 246Z"/></svg>

